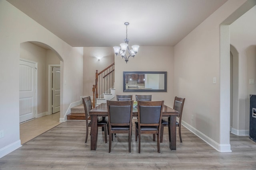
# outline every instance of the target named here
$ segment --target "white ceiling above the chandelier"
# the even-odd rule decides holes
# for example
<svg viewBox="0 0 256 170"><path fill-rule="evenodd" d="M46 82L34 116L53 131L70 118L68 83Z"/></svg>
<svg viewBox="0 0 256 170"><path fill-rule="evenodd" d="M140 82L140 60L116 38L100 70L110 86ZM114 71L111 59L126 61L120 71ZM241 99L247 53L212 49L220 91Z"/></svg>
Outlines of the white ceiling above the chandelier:
<svg viewBox="0 0 256 170"><path fill-rule="evenodd" d="M173 46L227 0L7 0L72 47Z"/></svg>

